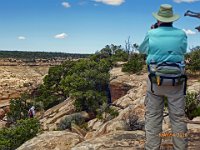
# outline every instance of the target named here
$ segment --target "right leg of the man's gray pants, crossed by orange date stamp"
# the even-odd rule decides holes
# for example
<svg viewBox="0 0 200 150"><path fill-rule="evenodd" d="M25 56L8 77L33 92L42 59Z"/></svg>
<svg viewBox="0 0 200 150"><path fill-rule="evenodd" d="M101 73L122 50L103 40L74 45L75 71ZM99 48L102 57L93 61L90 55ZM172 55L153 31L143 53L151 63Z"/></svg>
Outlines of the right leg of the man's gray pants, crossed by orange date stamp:
<svg viewBox="0 0 200 150"><path fill-rule="evenodd" d="M173 92L168 93L168 110L169 118L173 132L173 147L175 150L187 149L187 137L184 134L187 132L186 123L180 121L180 118L185 117L185 97L183 95L183 87L172 87Z"/></svg>

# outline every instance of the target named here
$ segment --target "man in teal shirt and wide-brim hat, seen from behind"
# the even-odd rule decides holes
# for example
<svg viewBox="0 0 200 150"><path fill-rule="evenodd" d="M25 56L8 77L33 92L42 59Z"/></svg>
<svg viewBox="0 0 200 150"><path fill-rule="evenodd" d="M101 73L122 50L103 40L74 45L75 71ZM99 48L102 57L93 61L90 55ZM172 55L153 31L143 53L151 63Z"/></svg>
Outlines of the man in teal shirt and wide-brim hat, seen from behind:
<svg viewBox="0 0 200 150"><path fill-rule="evenodd" d="M139 47L147 54L149 69L147 94L145 98L145 149L158 150L162 138L164 97L167 97L169 118L172 126L173 148L187 149L186 123L179 119L185 116L186 76L184 74L184 54L187 48L187 36L184 31L173 27L179 15L173 13L169 4L162 4L157 13L156 26L148 31Z"/></svg>

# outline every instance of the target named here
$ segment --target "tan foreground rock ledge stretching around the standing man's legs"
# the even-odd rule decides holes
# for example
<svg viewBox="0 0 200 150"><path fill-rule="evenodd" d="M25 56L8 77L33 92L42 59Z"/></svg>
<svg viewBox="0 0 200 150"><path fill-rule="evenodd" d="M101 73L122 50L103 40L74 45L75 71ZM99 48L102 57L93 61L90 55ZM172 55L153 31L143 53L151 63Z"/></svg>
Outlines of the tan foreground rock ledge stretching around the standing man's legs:
<svg viewBox="0 0 200 150"><path fill-rule="evenodd" d="M115 95L112 107L119 115L116 118L103 120L90 118L86 112L80 112L88 121L88 130L72 125L71 130L55 131L57 124L66 116L75 113L72 99L41 113L40 122L44 130L37 137L27 141L17 150L138 150L144 149L144 97L146 91L147 74L135 75L121 72L117 67L111 71L111 90ZM113 86L114 85L114 86ZM199 91L200 82L192 79L189 81L189 91ZM130 120L135 119L136 129L130 128ZM200 121L200 117L194 121ZM200 147L200 125L188 124L188 138L190 150ZM169 118L163 121L163 132L170 132ZM164 138L161 145L163 150L172 149L171 139Z"/></svg>

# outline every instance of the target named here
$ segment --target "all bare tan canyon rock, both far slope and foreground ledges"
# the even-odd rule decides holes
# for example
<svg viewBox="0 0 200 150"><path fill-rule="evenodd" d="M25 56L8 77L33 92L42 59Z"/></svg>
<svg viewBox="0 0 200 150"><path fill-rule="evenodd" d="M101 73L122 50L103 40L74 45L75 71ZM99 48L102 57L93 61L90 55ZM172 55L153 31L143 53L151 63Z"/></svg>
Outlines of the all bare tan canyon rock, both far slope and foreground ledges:
<svg viewBox="0 0 200 150"><path fill-rule="evenodd" d="M24 91L29 92L42 83L52 64L41 65L0 65L0 106L7 109L9 100L17 98ZM78 112L87 122L88 130L73 124L71 130L57 131L57 124L66 116L76 114L74 100L66 99L45 112L37 113L43 132L28 140L17 150L134 150L143 149L145 143L144 132L144 98L146 91L147 73L127 74L117 66L110 71L110 90L112 104L119 115L103 120L90 118L87 112ZM199 79L189 79L188 91L199 92ZM129 120L137 116L138 128L131 130ZM200 121L196 117L193 121ZM200 141L200 125L188 123L189 149L198 149ZM170 132L169 117L163 121L163 132ZM163 138L161 149L172 149L169 137Z"/></svg>

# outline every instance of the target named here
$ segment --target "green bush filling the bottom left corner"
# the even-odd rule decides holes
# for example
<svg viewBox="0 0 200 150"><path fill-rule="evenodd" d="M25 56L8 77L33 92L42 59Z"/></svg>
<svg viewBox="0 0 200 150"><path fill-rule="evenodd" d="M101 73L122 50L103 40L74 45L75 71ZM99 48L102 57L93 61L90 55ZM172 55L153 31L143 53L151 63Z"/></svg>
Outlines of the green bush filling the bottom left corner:
<svg viewBox="0 0 200 150"><path fill-rule="evenodd" d="M18 120L16 125L0 130L0 149L15 150L27 140L36 136L40 125L36 119Z"/></svg>

